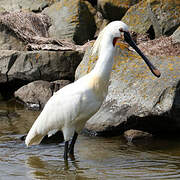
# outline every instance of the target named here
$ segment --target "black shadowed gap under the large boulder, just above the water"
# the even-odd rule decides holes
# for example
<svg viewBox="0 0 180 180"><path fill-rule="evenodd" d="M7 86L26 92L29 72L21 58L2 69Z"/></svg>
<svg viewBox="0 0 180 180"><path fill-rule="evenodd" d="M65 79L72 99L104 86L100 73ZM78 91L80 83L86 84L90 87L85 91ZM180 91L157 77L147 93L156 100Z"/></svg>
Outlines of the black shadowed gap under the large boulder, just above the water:
<svg viewBox="0 0 180 180"><path fill-rule="evenodd" d="M167 115L149 117L132 116L117 127L108 127L105 131L102 132L89 131L84 129L83 133L89 136L112 137L122 135L129 129L136 129L151 133L155 136L166 134L173 135L179 132L179 128L177 128L175 126L175 122L172 121L173 120Z"/></svg>

